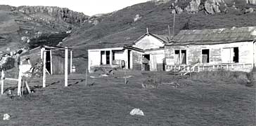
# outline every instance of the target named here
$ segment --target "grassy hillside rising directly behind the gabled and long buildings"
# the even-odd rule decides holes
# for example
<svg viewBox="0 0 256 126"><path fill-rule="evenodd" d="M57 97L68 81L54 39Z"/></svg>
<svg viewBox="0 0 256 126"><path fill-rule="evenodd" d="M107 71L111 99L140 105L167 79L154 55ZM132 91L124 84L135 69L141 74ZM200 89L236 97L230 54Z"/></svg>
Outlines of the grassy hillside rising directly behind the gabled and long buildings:
<svg viewBox="0 0 256 126"><path fill-rule="evenodd" d="M76 49L74 55L77 59L75 61L82 63L75 62L75 64L84 69L86 67L84 64L87 64L87 49L89 48L115 47L132 43L146 32L146 27L153 34L167 35L168 25L172 31L174 14L171 13L169 7L173 2L148 1L101 17L91 17L92 20L97 20L98 24L84 25L72 33L64 45ZM255 26L255 12L244 13L244 9L255 8L255 6L245 4L244 1L236 2L236 9L232 7L233 1L228 2L227 13L207 15L204 10L200 10L195 14L184 12L177 15L174 33L177 34L181 29L184 29L185 25L188 25L188 29ZM188 1L179 1L177 4L181 8L185 8ZM139 15L140 18L134 22L136 15Z"/></svg>

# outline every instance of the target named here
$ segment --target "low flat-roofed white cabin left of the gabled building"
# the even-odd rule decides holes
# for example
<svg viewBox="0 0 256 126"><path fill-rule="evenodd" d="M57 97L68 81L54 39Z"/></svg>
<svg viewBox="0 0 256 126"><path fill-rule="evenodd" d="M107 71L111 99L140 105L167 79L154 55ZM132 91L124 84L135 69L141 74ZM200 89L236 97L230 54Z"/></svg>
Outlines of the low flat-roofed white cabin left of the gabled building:
<svg viewBox="0 0 256 126"><path fill-rule="evenodd" d="M124 45L117 48L88 50L88 69L92 72L98 67L141 70L143 50Z"/></svg>

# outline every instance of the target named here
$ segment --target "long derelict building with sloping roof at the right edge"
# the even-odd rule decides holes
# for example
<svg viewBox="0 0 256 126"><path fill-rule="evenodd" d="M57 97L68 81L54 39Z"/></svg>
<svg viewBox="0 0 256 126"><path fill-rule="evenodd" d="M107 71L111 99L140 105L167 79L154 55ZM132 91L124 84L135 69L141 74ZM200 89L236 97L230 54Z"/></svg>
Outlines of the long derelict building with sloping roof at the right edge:
<svg viewBox="0 0 256 126"><path fill-rule="evenodd" d="M250 71L256 64L256 27L182 30L165 45L167 71L193 66Z"/></svg>

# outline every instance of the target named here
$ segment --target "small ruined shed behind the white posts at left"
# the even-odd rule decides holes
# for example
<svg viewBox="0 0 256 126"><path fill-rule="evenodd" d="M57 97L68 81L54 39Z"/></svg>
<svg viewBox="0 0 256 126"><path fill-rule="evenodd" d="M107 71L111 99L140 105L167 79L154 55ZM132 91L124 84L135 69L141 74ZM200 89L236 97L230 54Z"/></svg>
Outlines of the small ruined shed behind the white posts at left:
<svg viewBox="0 0 256 126"><path fill-rule="evenodd" d="M65 48L41 45L20 54L20 65L34 66L43 64L43 52L46 51L46 72L51 75L65 73ZM72 72L72 49L68 48L68 73Z"/></svg>

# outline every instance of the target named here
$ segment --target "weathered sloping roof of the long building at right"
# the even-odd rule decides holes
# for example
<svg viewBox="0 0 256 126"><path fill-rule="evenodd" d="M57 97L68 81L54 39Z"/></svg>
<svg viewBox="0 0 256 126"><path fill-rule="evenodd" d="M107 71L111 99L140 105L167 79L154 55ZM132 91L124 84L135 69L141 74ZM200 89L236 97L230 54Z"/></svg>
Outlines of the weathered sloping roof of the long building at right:
<svg viewBox="0 0 256 126"><path fill-rule="evenodd" d="M232 27L225 29L181 30L167 45L205 45L254 41L256 27Z"/></svg>

